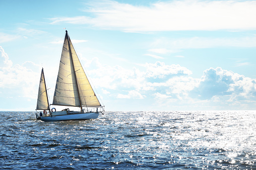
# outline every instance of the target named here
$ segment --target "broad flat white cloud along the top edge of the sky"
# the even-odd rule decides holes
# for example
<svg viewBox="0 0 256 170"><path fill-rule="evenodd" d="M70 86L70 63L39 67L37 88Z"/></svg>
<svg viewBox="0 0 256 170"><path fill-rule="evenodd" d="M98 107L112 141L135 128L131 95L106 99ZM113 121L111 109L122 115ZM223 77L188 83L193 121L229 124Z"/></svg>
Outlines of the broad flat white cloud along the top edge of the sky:
<svg viewBox="0 0 256 170"><path fill-rule="evenodd" d="M115 1L91 1L87 16L52 18L51 24L89 24L124 32L180 30L253 30L254 1L166 1L136 6Z"/></svg>

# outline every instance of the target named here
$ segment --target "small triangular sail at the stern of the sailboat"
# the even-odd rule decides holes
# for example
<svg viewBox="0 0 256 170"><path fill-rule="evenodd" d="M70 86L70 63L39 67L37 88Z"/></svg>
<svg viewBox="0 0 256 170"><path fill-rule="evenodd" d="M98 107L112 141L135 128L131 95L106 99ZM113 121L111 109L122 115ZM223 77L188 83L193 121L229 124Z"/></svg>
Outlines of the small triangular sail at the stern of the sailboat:
<svg viewBox="0 0 256 170"><path fill-rule="evenodd" d="M43 69L40 77L36 110L49 110L49 102L48 102Z"/></svg>

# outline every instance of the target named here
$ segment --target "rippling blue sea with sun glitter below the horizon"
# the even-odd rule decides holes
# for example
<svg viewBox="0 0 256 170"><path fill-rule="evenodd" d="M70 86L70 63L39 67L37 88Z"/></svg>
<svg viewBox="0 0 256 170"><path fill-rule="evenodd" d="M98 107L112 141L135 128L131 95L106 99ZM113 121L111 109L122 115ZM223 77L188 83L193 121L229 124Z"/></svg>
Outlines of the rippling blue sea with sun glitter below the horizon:
<svg viewBox="0 0 256 170"><path fill-rule="evenodd" d="M256 169L256 111L0 112L0 169Z"/></svg>

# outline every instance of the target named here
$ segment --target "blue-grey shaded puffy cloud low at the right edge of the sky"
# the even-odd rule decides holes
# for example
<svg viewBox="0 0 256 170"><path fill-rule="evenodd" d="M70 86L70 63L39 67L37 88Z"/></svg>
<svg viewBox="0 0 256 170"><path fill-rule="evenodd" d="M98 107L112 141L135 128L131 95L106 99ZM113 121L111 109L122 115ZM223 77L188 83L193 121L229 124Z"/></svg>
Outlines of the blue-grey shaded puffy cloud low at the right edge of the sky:
<svg viewBox="0 0 256 170"><path fill-rule="evenodd" d="M256 81L220 67L204 71L199 84L191 90L191 96L211 99L218 96L226 101L255 100Z"/></svg>

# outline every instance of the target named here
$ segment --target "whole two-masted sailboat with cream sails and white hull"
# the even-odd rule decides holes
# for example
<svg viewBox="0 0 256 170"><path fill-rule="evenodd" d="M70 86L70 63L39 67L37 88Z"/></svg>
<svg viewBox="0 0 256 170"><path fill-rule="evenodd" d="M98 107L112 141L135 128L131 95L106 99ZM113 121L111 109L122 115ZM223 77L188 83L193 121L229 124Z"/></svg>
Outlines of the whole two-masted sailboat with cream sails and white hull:
<svg viewBox="0 0 256 170"><path fill-rule="evenodd" d="M51 105L79 107L79 111L66 108L56 111ZM42 69L36 110L43 110L36 118L42 121L96 119L104 112L78 59L66 30L56 80L53 102L49 105L44 72ZM84 107L84 108L83 108Z"/></svg>

